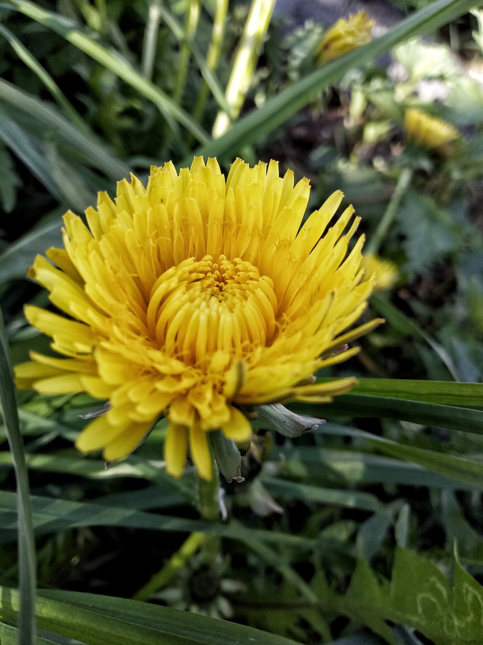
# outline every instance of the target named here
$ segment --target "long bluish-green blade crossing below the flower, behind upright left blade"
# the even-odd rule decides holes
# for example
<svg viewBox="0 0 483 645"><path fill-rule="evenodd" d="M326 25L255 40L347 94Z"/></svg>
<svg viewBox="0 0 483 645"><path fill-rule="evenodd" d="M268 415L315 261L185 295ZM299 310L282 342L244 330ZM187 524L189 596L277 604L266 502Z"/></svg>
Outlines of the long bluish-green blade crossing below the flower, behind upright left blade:
<svg viewBox="0 0 483 645"><path fill-rule="evenodd" d="M35 532L52 533L73 526L123 526L124 528L143 528L153 531L178 531L192 533L209 533L234 540L249 541L257 539L263 542L290 544L298 548L310 549L314 541L290 533L248 529L236 523L216 524L202 520L190 520L157 513L104 506L88 502L70 502L64 499L50 499L32 495L32 517ZM0 491L0 526L2 536L6 539L17 529L15 508L17 495Z"/></svg>

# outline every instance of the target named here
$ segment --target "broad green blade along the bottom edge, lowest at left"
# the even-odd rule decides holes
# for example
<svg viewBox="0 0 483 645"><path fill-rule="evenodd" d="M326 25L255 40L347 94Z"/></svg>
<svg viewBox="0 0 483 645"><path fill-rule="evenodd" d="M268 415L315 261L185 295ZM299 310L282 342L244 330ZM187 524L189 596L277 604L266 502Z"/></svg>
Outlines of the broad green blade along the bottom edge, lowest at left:
<svg viewBox="0 0 483 645"><path fill-rule="evenodd" d="M18 619L17 591L0 588L0 611ZM36 613L44 630L89 645L296 645L233 622L93 593L41 591Z"/></svg>

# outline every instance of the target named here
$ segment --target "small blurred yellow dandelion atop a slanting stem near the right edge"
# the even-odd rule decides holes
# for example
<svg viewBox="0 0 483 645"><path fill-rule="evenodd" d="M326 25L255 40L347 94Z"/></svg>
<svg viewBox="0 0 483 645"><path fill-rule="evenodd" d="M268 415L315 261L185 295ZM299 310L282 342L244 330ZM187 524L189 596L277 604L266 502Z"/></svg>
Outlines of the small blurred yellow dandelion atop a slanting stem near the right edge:
<svg viewBox="0 0 483 645"><path fill-rule="evenodd" d="M404 129L410 141L421 148L437 150L443 155L450 154L450 144L460 136L458 130L450 123L431 117L417 108L406 110Z"/></svg>

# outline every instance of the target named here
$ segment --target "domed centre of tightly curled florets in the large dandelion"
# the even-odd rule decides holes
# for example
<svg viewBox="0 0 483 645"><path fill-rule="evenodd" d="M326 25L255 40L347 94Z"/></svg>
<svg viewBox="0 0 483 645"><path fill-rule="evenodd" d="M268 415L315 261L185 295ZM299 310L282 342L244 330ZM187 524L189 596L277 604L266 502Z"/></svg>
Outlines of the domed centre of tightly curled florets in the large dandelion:
<svg viewBox="0 0 483 645"><path fill-rule="evenodd" d="M278 303L269 277L239 258L189 258L151 289L147 325L168 355L205 366L221 350L242 358L272 341Z"/></svg>

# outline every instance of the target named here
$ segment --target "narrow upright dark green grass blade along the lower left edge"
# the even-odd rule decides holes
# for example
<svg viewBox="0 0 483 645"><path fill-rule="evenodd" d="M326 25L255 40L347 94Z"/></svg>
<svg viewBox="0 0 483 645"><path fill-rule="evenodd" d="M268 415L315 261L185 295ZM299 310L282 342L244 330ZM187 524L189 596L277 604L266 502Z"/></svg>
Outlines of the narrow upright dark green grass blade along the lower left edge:
<svg viewBox="0 0 483 645"><path fill-rule="evenodd" d="M14 459L17 480L16 511L19 544L19 645L35 645L35 541L33 539L30 488L25 465L22 435L17 416L12 368L8 356L3 317L0 313L0 403L8 443Z"/></svg>

